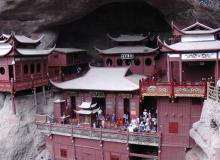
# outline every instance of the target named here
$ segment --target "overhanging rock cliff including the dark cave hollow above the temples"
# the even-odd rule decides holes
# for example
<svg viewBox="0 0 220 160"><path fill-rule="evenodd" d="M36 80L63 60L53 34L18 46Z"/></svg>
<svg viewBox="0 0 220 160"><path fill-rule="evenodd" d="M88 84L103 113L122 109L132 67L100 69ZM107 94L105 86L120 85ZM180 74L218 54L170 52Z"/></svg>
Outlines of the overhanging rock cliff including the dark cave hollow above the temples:
<svg viewBox="0 0 220 160"><path fill-rule="evenodd" d="M2 0L0 31L44 34L43 45L79 47L94 55L93 47L106 33L169 32L196 20L220 26L218 0Z"/></svg>

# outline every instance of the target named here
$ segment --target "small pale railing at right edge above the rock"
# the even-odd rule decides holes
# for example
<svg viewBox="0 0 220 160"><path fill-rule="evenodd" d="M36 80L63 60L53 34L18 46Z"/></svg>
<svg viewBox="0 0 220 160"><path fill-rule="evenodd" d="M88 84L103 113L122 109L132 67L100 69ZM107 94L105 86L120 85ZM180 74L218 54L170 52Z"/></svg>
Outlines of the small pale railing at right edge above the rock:
<svg viewBox="0 0 220 160"><path fill-rule="evenodd" d="M207 98L220 103L220 87L214 84L207 84Z"/></svg>

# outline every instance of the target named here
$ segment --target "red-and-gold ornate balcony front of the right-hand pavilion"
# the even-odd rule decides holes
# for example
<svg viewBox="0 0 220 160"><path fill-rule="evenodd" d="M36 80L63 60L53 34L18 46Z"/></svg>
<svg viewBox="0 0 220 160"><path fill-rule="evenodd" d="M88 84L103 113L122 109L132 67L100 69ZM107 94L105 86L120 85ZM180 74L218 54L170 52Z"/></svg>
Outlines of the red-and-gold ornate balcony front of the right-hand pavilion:
<svg viewBox="0 0 220 160"><path fill-rule="evenodd" d="M158 83L140 81L140 95L168 97L206 97L206 82Z"/></svg>

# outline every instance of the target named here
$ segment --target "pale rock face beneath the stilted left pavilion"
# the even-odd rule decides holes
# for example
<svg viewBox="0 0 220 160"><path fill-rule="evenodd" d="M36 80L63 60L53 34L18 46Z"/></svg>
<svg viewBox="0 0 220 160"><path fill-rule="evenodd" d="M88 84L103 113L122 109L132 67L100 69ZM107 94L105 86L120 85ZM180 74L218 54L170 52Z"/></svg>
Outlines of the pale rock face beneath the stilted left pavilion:
<svg viewBox="0 0 220 160"><path fill-rule="evenodd" d="M38 94L38 106L35 107L33 95L17 96L17 115L13 115L10 95L0 95L0 159L35 159L46 148L34 122L37 112L52 112L51 98L48 98L48 105L45 106L42 97L42 94Z"/></svg>

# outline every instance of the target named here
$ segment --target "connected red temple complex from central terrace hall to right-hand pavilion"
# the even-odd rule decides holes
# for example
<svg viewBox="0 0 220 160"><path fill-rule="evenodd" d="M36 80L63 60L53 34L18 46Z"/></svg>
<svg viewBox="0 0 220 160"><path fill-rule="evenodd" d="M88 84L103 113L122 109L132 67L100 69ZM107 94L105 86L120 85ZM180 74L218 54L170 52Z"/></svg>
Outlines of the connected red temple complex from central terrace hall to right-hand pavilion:
<svg viewBox="0 0 220 160"><path fill-rule="evenodd" d="M184 160L194 145L189 130L200 117L206 83L220 77L219 30L198 22L184 29L172 24L169 43L158 38L158 49L146 47L143 35L108 35L116 46L96 49L103 67L51 81L62 97L54 102L52 118L37 115L36 122L52 159ZM83 102L100 107L96 120L93 110L86 111L90 120L77 118L75 113L85 113ZM142 123L131 128L144 115L157 119L155 130L143 131ZM95 121L105 124L93 126Z"/></svg>

